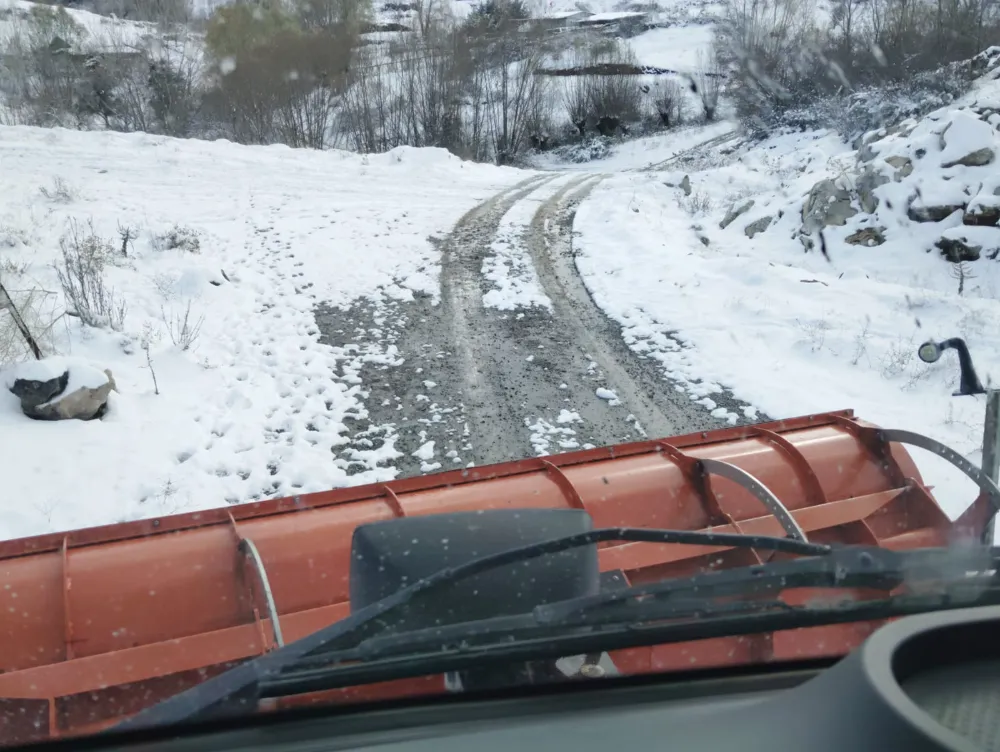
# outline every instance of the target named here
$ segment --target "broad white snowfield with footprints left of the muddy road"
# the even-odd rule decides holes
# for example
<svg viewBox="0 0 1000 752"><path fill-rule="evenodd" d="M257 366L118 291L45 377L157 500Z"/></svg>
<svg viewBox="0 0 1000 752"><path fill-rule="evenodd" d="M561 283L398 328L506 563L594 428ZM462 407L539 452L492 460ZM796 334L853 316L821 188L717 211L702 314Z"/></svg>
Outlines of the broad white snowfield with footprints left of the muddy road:
<svg viewBox="0 0 1000 752"><path fill-rule="evenodd" d="M392 440L357 452L364 467L351 475L331 450L364 414L361 365L398 354L324 344L315 308L439 297L428 238L524 177L441 150L360 157L26 127L0 128L0 165L0 228L23 239L0 244L24 269L5 271L5 286L35 323L58 320L41 337L47 352L109 368L118 389L103 419L56 425L0 390L4 491L18 500L0 505L0 538L395 477ZM51 198L57 183L66 200ZM62 316L52 265L73 223L111 249L105 282L126 308L117 330ZM119 225L136 231L126 256ZM45 293L16 292L31 289ZM50 375L55 362L0 367L0 381ZM83 468L101 470L82 483Z"/></svg>

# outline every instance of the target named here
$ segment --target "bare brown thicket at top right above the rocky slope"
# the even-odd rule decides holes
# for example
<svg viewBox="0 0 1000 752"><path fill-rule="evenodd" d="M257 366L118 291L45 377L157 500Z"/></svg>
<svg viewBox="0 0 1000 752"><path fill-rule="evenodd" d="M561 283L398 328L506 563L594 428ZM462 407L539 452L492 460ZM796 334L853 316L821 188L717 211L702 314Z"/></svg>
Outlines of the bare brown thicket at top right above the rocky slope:
<svg viewBox="0 0 1000 752"><path fill-rule="evenodd" d="M733 70L727 88L737 112L755 130L825 127L817 116L863 119L866 111L875 114L891 104L885 101L887 87L902 87L896 98L908 108L944 97L940 106L950 101L944 95L954 96L970 80L966 71L956 81L961 75L953 64L973 57L1000 33L1000 5L992 0L833 0L826 22L811 10L804 0L727 2L716 50ZM869 87L875 87L867 92L871 101L859 110L853 97ZM947 91L939 97L936 88ZM811 111L816 105L824 112Z"/></svg>

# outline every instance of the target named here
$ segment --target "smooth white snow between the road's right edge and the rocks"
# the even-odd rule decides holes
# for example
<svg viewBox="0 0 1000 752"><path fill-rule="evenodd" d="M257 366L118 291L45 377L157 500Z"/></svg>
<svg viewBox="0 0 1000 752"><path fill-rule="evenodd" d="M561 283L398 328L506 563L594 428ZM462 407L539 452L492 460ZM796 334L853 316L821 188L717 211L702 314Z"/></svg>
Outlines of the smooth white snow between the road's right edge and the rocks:
<svg viewBox="0 0 1000 752"><path fill-rule="evenodd" d="M783 172L791 165L771 157L770 174L750 176L772 182L770 197L758 185L758 204L777 205L796 181L811 185L827 176L825 164L811 176L799 174L821 151L815 142L811 149L804 139L805 148L789 146L795 169ZM680 190L645 175L609 179L580 206L579 269L629 346L658 359L693 397L724 384L772 419L853 408L865 420L926 434L978 463L983 398L952 397L954 358L927 366L916 350L927 339L964 336L983 381L1000 376L1000 296L990 292L1000 289L1000 268L977 266L980 276L967 291L978 292L959 297L947 262L905 243L838 244L828 263L803 253L791 224L749 241L742 228L750 214L718 229L727 190L742 188L725 179L732 170L721 172L691 177L694 190L720 207L711 220L693 217ZM785 215L789 223L794 213ZM943 460L913 454L949 514L971 503L971 482Z"/></svg>

